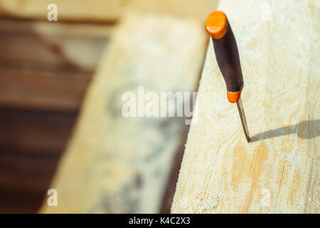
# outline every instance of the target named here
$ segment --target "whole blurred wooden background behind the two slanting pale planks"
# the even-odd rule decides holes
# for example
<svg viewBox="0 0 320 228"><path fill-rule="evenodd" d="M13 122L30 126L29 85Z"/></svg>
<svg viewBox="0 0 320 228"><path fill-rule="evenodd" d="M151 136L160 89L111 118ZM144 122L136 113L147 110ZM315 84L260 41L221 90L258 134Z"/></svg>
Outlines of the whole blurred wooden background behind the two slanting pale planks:
<svg viewBox="0 0 320 228"><path fill-rule="evenodd" d="M58 5L58 22L46 21L49 3ZM209 0L0 0L0 212L40 207L85 90L124 14L154 12L202 23L216 5ZM169 212L183 146L179 151L161 212Z"/></svg>

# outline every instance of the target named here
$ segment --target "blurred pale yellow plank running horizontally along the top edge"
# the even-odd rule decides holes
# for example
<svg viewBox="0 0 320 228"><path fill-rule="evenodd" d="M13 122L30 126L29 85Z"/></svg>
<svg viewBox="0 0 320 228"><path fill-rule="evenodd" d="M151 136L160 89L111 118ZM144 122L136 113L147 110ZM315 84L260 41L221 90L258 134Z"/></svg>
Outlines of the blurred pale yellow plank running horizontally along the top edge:
<svg viewBox="0 0 320 228"><path fill-rule="evenodd" d="M58 21L114 23L127 9L205 20L218 0L0 0L0 16L46 21L51 3L58 6Z"/></svg>

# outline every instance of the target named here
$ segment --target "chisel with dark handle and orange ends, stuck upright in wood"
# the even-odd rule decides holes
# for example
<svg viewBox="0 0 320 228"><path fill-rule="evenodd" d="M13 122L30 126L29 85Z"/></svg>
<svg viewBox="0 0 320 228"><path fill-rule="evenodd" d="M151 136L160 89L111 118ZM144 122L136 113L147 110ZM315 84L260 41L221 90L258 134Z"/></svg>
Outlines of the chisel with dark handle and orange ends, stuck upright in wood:
<svg viewBox="0 0 320 228"><path fill-rule="evenodd" d="M247 142L250 142L245 110L241 101L243 78L240 66L238 46L227 16L222 11L213 11L208 15L206 30L210 34L215 58L227 86L227 97L230 103L237 103L240 120Z"/></svg>

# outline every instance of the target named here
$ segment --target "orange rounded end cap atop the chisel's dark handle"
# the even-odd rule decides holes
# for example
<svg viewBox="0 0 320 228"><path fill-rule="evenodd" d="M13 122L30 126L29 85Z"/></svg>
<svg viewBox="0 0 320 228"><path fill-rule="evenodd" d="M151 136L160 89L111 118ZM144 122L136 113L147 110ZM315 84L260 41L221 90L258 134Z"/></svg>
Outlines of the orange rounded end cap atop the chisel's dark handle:
<svg viewBox="0 0 320 228"><path fill-rule="evenodd" d="M206 21L206 30L214 39L220 39L228 31L228 19L223 11L214 11L208 15Z"/></svg>

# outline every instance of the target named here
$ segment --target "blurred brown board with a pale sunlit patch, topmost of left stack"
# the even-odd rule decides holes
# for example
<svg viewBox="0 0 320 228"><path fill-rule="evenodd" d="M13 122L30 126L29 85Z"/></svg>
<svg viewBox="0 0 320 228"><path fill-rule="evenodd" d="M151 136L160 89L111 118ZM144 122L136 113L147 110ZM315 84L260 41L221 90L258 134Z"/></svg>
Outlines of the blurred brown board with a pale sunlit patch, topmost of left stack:
<svg viewBox="0 0 320 228"><path fill-rule="evenodd" d="M1 20L1 59L46 65L68 62L73 71L92 72L97 67L101 49L107 44L112 28L92 24ZM41 64L37 68L43 69ZM58 66L54 68L57 68L56 71L62 70Z"/></svg>

